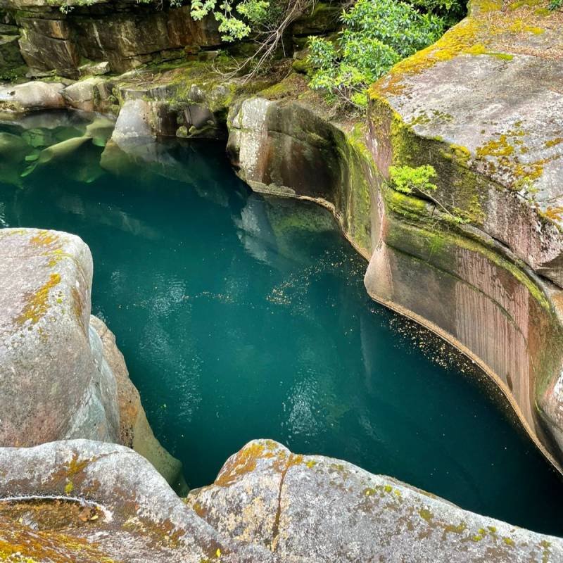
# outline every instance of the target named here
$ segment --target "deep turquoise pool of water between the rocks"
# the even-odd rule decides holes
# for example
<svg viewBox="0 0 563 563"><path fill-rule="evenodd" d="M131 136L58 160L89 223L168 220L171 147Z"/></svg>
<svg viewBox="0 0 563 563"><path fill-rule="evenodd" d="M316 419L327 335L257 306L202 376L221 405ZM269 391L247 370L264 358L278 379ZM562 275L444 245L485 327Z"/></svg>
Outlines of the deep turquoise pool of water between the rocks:
<svg viewBox="0 0 563 563"><path fill-rule="evenodd" d="M84 134L59 119L27 122L47 134L34 144ZM246 441L273 438L563 534L562 482L498 393L368 298L365 262L326 211L251 194L221 144L137 147L129 162L110 147L102 157L96 139L47 158L29 134L2 153L3 139L18 144L6 133L23 129L0 126L0 223L89 244L93 312L191 487Z"/></svg>

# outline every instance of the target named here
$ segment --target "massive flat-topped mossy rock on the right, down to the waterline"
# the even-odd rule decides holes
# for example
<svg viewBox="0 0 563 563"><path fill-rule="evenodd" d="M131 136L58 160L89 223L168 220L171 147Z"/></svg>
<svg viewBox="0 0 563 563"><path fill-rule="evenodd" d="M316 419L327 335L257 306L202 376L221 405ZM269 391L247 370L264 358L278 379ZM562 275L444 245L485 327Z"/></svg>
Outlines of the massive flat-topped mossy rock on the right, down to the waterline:
<svg viewBox="0 0 563 563"><path fill-rule="evenodd" d="M469 7L370 89L365 285L479 362L560 470L563 13ZM391 165L433 166L440 205L390 189Z"/></svg>

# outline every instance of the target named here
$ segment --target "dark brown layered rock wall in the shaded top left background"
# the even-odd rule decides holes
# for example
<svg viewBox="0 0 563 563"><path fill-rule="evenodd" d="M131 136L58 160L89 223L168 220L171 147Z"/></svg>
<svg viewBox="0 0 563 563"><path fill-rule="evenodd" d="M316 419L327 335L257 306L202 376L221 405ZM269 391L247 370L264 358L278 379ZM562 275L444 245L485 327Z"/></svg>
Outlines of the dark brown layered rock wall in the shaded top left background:
<svg viewBox="0 0 563 563"><path fill-rule="evenodd" d="M108 63L103 72L125 72L185 56L184 47L197 50L221 43L215 20L195 22L189 6L158 9L156 4L127 0L94 1L88 6L70 2L70 11L63 13L61 4L5 3L20 29L21 56L35 74L54 70L76 78L92 72L89 61Z"/></svg>

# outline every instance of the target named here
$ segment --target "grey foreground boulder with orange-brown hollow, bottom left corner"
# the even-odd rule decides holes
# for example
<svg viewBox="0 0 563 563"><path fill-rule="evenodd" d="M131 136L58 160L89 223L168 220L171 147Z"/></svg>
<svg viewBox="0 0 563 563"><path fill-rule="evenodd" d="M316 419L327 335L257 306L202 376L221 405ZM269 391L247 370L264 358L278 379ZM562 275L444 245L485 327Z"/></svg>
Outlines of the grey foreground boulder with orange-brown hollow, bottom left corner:
<svg viewBox="0 0 563 563"><path fill-rule="evenodd" d="M0 557L14 562L267 563L217 533L129 448L0 448Z"/></svg>

